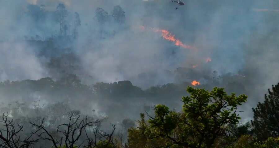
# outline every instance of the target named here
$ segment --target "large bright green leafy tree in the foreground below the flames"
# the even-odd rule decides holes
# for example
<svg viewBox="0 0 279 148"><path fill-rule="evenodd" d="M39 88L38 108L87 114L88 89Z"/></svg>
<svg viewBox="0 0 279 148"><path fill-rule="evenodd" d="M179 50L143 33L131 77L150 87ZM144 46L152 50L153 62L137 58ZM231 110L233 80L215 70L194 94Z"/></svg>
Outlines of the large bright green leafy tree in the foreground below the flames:
<svg viewBox="0 0 279 148"><path fill-rule="evenodd" d="M227 124L239 123L237 106L246 95L227 95L224 88L205 89L187 87L190 94L182 97L182 112L169 111L166 105L156 105L155 117L150 117L145 134L148 138L169 140L165 146L210 148L216 138L228 134Z"/></svg>

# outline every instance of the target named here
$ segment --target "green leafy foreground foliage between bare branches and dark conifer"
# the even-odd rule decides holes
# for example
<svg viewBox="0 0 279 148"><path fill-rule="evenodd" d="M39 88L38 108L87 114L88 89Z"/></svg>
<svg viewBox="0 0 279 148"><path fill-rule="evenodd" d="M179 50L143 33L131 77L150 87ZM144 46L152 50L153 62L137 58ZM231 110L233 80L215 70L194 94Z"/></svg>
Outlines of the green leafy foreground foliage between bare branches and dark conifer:
<svg viewBox="0 0 279 148"><path fill-rule="evenodd" d="M133 148L276 148L279 138L260 141L250 122L239 124L238 105L246 95L227 95L223 88L188 87L190 96L182 97L182 111L166 105L154 107L154 117L145 121L141 113L138 128L128 130L128 145Z"/></svg>

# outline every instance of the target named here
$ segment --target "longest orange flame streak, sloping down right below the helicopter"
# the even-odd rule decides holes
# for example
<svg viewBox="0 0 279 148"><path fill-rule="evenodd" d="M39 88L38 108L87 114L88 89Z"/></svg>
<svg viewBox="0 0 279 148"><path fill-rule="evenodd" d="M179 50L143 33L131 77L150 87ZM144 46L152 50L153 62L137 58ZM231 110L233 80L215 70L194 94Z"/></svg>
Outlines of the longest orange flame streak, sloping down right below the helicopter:
<svg viewBox="0 0 279 148"><path fill-rule="evenodd" d="M185 49L193 49L193 48L195 48L193 46L183 44L179 39L175 39L175 35L172 35L167 30L164 30L164 29L162 29L162 30L155 30L155 32L162 32L163 38L166 39L166 40L175 42L176 46L181 46L181 47L183 47Z"/></svg>

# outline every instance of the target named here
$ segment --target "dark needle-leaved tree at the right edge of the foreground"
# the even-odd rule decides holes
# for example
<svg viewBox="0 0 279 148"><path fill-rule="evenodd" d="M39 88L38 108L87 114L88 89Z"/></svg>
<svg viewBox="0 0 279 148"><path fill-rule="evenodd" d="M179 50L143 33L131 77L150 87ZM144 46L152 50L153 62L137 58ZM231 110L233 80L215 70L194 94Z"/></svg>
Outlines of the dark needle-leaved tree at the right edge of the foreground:
<svg viewBox="0 0 279 148"><path fill-rule="evenodd" d="M251 121L255 134L262 141L279 136L279 83L272 85L272 91L268 89L264 99L263 103L259 102L255 109L252 108L254 120Z"/></svg>

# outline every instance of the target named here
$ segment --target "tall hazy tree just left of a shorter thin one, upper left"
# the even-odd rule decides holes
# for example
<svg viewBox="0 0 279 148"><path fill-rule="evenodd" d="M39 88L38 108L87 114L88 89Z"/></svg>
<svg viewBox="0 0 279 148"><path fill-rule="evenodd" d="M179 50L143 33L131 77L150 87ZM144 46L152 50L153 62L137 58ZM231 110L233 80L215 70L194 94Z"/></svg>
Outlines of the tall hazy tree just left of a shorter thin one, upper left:
<svg viewBox="0 0 279 148"><path fill-rule="evenodd" d="M66 10L66 7L64 4L59 3L58 6L56 7L56 22L59 23L60 26L60 35L65 31L65 25L66 25L66 17L68 15L68 12Z"/></svg>

